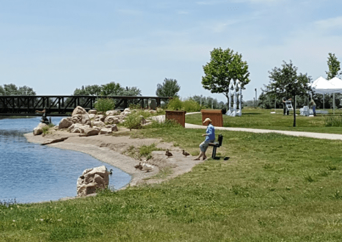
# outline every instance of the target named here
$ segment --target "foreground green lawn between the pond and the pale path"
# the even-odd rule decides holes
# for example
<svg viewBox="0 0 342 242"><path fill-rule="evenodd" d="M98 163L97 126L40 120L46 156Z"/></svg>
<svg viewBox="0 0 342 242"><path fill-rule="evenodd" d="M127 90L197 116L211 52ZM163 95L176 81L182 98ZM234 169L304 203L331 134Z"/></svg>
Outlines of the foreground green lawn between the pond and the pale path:
<svg viewBox="0 0 342 242"><path fill-rule="evenodd" d="M162 138L195 155L203 132L147 128L131 136ZM219 160L162 184L64 202L3 204L0 241L342 240L341 141L222 134Z"/></svg>

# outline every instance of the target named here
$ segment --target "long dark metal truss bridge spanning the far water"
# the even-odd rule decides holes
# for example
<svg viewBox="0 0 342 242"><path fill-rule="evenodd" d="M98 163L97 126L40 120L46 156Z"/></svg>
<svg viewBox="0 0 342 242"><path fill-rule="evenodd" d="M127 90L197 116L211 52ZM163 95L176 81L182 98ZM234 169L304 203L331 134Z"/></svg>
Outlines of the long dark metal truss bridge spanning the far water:
<svg viewBox="0 0 342 242"><path fill-rule="evenodd" d="M123 110L130 104L147 107L148 99L155 99L157 106L160 101L167 101L172 97L143 97L143 96L1 96L0 116L41 116L36 110L46 108L49 116L70 116L76 106L87 111L94 108L99 98L114 99L114 109Z"/></svg>

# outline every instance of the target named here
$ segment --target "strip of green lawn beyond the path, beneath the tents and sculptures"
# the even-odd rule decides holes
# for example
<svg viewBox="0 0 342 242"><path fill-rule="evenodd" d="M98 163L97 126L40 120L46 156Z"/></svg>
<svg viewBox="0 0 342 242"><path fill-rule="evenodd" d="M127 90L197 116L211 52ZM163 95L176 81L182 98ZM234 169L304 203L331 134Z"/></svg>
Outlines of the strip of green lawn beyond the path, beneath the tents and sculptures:
<svg viewBox="0 0 342 242"><path fill-rule="evenodd" d="M293 113L289 116L282 115L282 109L277 109L276 114L271 114L274 109L254 109L243 108L241 117L229 117L223 115L224 127L238 128L257 128L264 130L289 130L289 131L304 131L304 132L319 132L329 134L342 134L341 127L324 127L324 119L326 117L339 117L342 115L341 110L335 110L335 115L332 110L329 110L328 115L317 114L317 117L304 117L300 115L299 110L296 116L296 127L293 127ZM201 114L186 115L186 123L201 125Z"/></svg>

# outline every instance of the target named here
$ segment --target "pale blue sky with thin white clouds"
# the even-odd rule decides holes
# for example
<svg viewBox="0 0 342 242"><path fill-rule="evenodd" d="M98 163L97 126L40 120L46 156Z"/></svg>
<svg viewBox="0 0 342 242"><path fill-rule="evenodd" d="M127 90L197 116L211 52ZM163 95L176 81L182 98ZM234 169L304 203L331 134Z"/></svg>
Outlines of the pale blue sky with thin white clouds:
<svg viewBox="0 0 342 242"><path fill-rule="evenodd" d="M337 0L23 1L0 0L0 85L37 95L71 95L82 85L120 83L155 96L173 78L182 98L204 95L203 65L214 48L241 53L260 94L282 60L326 77L328 53L342 62Z"/></svg>

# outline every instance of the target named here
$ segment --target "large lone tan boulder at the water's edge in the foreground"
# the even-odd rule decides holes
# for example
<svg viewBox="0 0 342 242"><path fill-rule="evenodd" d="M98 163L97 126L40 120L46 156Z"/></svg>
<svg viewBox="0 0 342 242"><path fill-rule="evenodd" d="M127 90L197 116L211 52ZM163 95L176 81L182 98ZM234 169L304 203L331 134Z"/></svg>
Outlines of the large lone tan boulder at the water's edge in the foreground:
<svg viewBox="0 0 342 242"><path fill-rule="evenodd" d="M98 189L106 189L109 184L108 171L103 165L83 171L77 179L77 197L96 193Z"/></svg>

